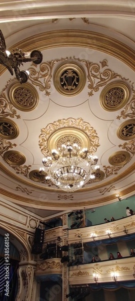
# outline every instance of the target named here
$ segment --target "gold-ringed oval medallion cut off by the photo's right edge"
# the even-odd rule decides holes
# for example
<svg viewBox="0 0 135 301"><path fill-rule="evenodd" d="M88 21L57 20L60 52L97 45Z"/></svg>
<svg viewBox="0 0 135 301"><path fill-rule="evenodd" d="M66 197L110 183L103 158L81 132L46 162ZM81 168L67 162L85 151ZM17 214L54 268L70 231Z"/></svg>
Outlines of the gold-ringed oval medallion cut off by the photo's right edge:
<svg viewBox="0 0 135 301"><path fill-rule="evenodd" d="M135 119L124 121L117 130L118 138L130 140L135 138Z"/></svg>

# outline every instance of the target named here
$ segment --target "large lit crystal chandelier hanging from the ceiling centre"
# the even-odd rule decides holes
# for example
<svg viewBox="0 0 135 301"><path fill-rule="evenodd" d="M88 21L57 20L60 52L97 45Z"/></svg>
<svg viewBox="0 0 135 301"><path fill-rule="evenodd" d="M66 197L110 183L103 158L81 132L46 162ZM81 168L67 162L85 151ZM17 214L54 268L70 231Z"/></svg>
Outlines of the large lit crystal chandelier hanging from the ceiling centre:
<svg viewBox="0 0 135 301"><path fill-rule="evenodd" d="M48 167L47 179L50 178L61 190L74 192L95 178L99 171L97 161L98 158L91 156L87 148L80 149L76 143L67 143L58 150L52 149L51 156L44 157L42 163Z"/></svg>

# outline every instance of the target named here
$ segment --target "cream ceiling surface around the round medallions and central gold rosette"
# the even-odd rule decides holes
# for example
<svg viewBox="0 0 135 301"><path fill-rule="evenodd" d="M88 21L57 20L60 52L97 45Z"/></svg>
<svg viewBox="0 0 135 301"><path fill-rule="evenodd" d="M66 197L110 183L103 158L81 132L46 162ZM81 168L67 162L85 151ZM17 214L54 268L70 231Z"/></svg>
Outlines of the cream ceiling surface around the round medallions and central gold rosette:
<svg viewBox="0 0 135 301"><path fill-rule="evenodd" d="M55 214L56 211L78 206L89 208L113 202L117 193L123 198L133 194L134 136L132 135L132 139L121 139L117 131L123 122L128 125L128 120L134 119L134 3L119 1L116 6L115 2L112 4L102 1L100 12L95 1L90 4L89 1L83 2L85 12L79 1L68 2L68 7L61 1L36 1L34 7L31 3L17 2L17 14L16 2L8 1L8 10L7 2L0 2L0 29L7 48L11 49L16 45L24 51L39 49L43 54L41 66L30 63L24 65L24 69L38 75L36 80L32 75L28 80L28 87L35 90L36 98L36 105L31 110L20 110L10 102L9 91L11 87L16 87L17 82L0 66L0 118L9 118L18 128L18 135L13 139L5 139L4 147L10 142L8 150L19 152L25 158L25 163L18 169L7 164L3 160L7 148L3 149L1 143L1 197L45 217L48 216L45 209L52 210L52 214ZM49 3L51 10L45 6L46 3ZM14 9L12 12L11 8ZM84 88L74 96L62 95L53 85L53 74L59 64L64 62L79 65L86 75ZM127 101L123 102L121 108L106 110L101 106L101 92L106 93L108 84L127 86L129 95L126 90ZM43 155L39 148L41 129L50 123L60 127L60 122L63 121L58 120L62 119L64 126L67 120L73 120L73 126L81 120L77 125L81 130L88 123L96 131L99 146L95 155L98 156L100 170L104 173L103 180L87 184L80 191L71 194L62 192L53 185L29 179L29 172L42 166ZM52 126L50 128L53 132ZM88 134L88 130L85 131ZM117 152L126 152L125 165L110 164Z"/></svg>

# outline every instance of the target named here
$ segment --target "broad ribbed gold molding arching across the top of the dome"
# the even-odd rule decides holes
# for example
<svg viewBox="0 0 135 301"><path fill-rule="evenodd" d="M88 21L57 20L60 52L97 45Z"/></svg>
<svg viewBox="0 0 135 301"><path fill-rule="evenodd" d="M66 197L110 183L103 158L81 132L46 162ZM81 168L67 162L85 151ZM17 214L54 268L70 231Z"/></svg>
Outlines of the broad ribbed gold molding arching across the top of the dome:
<svg viewBox="0 0 135 301"><path fill-rule="evenodd" d="M32 51L33 49L50 49L54 47L84 47L94 50L102 50L118 60L124 62L132 70L135 70L134 50L122 42L96 33L83 30L54 30L28 37L12 48L20 48L24 51ZM1 67L1 66L0 66ZM0 68L0 75L5 68Z"/></svg>

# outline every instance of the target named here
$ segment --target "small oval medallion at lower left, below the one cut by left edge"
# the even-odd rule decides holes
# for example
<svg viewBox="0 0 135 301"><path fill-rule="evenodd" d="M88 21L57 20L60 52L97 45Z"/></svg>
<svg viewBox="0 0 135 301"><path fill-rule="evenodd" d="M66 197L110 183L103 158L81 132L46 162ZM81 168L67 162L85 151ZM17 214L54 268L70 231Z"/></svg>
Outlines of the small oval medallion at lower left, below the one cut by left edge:
<svg viewBox="0 0 135 301"><path fill-rule="evenodd" d="M7 164L13 166L20 166L23 165L26 161L24 155L17 152L16 150L8 150L4 153L3 159L6 161Z"/></svg>

